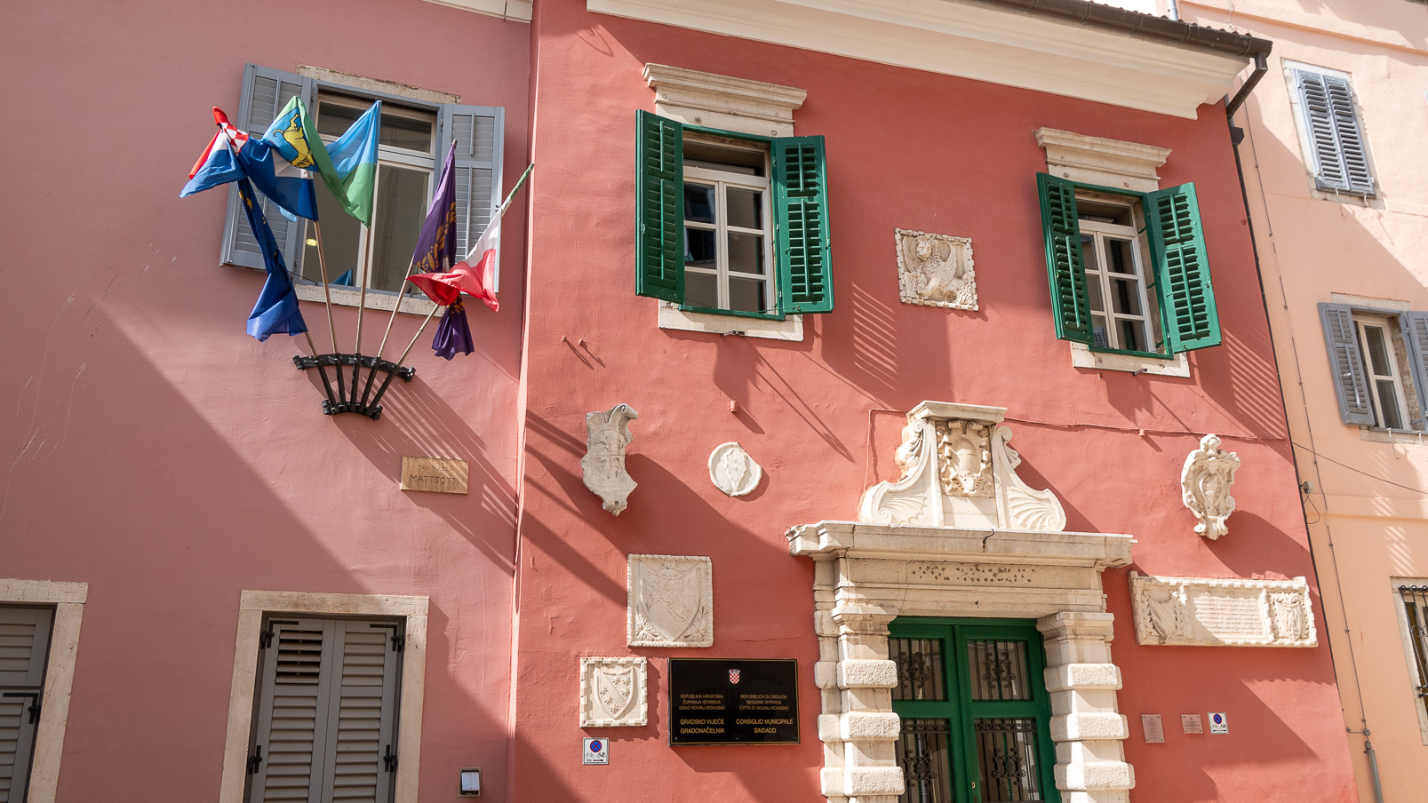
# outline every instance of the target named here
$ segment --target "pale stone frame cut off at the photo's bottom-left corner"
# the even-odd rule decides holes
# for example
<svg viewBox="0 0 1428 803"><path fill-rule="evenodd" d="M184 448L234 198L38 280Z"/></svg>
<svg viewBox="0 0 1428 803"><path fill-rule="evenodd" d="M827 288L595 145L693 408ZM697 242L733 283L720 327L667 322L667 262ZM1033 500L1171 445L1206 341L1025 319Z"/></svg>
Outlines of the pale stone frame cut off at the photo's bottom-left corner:
<svg viewBox="0 0 1428 803"><path fill-rule="evenodd" d="M80 620L89 583L59 580L0 579L0 602L54 606L50 655L44 663L44 696L40 722L34 730L30 757L30 792L26 803L54 803L60 782L60 756L64 752L64 727L70 719L70 690L74 686L74 660L80 648Z"/></svg>

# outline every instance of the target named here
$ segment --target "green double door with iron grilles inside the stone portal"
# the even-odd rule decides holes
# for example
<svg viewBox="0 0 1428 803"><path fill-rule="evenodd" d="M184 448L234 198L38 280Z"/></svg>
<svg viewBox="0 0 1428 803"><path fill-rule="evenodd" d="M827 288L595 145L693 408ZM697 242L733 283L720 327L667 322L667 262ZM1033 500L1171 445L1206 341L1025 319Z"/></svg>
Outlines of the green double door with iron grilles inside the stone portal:
<svg viewBox="0 0 1428 803"><path fill-rule="evenodd" d="M907 779L898 802L1060 803L1035 623L904 616L890 632Z"/></svg>

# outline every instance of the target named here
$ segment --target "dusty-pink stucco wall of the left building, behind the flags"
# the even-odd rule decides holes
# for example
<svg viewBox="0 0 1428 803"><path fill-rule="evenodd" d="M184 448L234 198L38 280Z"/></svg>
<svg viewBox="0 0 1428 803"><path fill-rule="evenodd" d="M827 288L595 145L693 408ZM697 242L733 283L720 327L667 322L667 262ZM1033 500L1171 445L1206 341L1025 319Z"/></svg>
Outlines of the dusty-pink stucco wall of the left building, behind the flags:
<svg viewBox="0 0 1428 803"><path fill-rule="evenodd" d="M506 792L521 215L477 352L414 349L381 421L321 414L301 337L244 334L263 275L218 265L223 190L178 198L243 64L308 64L506 107L526 164L528 26L418 0L23 3L0 220L0 578L90 583L59 800L214 800L241 589L428 595L421 796ZM303 304L321 344L321 305ZM356 317L337 312L351 349ZM368 342L386 314L366 319ZM420 319L403 315L406 344ZM388 357L394 348L387 347ZM467 496L397 489L471 461ZM417 739L418 735L401 735Z"/></svg>

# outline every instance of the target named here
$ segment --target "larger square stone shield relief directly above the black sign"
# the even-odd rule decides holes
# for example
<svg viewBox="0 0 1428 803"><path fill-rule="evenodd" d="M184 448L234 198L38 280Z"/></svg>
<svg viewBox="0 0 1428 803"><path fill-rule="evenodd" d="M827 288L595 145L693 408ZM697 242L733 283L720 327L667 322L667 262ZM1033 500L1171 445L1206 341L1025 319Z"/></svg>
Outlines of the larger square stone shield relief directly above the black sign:
<svg viewBox="0 0 1428 803"><path fill-rule="evenodd" d="M631 555L628 572L630 646L714 646L714 580L708 558Z"/></svg>

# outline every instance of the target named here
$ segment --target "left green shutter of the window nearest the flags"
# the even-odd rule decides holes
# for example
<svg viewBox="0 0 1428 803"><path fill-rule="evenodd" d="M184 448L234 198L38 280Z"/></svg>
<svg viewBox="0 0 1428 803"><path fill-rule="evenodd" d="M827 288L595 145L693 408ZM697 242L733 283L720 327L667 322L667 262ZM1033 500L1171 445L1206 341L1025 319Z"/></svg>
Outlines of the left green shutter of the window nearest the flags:
<svg viewBox="0 0 1428 803"><path fill-rule="evenodd" d="M638 295L684 301L684 127L635 113L635 274Z"/></svg>

